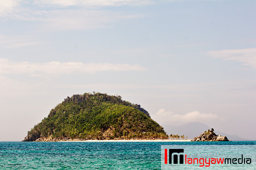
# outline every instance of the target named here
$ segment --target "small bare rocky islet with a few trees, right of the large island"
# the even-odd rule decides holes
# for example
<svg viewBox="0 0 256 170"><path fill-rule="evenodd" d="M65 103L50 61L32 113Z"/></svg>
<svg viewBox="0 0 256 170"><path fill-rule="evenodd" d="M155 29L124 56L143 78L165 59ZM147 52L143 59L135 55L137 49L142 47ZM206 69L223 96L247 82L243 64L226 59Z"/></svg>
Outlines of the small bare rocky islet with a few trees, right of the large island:
<svg viewBox="0 0 256 170"><path fill-rule="evenodd" d="M221 135L216 135L214 133L214 130L212 129L211 131L205 131L204 133L200 134L198 137L193 138L191 141L229 141L227 137L223 137Z"/></svg>

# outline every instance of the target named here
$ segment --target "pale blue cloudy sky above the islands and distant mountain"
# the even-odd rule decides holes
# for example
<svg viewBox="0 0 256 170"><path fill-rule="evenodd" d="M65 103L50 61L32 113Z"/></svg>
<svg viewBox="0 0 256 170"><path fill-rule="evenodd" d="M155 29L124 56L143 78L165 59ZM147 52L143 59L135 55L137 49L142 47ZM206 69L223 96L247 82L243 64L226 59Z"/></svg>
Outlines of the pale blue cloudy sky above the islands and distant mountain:
<svg viewBox="0 0 256 170"><path fill-rule="evenodd" d="M256 140L256 1L0 0L0 141L93 91Z"/></svg>

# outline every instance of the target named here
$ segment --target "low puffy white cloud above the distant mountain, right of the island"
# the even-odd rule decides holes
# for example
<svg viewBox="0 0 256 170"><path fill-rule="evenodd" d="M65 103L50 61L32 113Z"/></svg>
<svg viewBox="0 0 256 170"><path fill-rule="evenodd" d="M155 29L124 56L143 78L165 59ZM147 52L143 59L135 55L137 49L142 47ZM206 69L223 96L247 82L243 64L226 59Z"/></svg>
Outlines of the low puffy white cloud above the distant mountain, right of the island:
<svg viewBox="0 0 256 170"><path fill-rule="evenodd" d="M216 119L218 116L212 113L200 113L199 111L192 111L184 115L174 114L171 111L166 111L164 108L161 108L153 116L160 124L169 124L169 123L189 123L189 122L204 122L206 120Z"/></svg>

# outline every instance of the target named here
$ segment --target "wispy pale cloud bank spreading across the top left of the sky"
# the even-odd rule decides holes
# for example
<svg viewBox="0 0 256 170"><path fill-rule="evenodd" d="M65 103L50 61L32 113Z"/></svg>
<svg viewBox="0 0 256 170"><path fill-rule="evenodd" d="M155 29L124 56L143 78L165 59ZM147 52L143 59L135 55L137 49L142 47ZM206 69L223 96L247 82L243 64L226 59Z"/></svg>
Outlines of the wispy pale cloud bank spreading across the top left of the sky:
<svg viewBox="0 0 256 170"><path fill-rule="evenodd" d="M108 28L109 23L142 15L99 9L105 6L143 5L142 0L8 0L0 1L0 20L34 21L39 31Z"/></svg>

